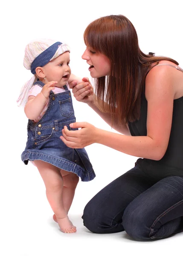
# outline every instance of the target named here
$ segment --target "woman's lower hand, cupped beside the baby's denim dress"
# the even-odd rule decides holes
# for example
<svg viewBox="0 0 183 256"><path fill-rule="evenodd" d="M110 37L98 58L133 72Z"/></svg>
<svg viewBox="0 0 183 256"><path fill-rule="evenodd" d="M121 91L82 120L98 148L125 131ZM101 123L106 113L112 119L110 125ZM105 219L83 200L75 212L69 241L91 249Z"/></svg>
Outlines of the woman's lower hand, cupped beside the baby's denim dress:
<svg viewBox="0 0 183 256"><path fill-rule="evenodd" d="M69 131L67 126L64 126L63 136L60 138L69 148L84 148L96 143L99 129L95 126L87 122L75 122L70 124L70 127L81 128L81 130Z"/></svg>

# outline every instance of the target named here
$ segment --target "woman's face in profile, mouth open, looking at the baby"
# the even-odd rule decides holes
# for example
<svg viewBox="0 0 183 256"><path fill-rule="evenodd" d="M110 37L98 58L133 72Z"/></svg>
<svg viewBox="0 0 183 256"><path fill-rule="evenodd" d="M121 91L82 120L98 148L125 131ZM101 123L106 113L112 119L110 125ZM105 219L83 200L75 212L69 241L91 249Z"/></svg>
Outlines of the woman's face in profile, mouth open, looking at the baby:
<svg viewBox="0 0 183 256"><path fill-rule="evenodd" d="M109 76L111 64L109 58L102 53L97 53L91 47L87 47L82 55L82 59L87 61L90 65L90 76L93 78L99 78L102 76Z"/></svg>

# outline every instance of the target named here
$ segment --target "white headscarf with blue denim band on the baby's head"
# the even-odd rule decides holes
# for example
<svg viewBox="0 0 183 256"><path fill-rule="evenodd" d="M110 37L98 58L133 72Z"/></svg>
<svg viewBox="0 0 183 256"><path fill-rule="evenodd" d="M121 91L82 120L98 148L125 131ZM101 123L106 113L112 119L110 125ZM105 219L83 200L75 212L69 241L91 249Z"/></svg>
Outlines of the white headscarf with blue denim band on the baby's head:
<svg viewBox="0 0 183 256"><path fill-rule="evenodd" d="M44 67L49 61L67 51L70 52L70 47L67 44L49 39L33 41L26 46L23 66L27 70L31 70L34 76L23 85L20 96L17 99L18 106L24 107L26 105L29 90L37 80L35 76L36 67Z"/></svg>

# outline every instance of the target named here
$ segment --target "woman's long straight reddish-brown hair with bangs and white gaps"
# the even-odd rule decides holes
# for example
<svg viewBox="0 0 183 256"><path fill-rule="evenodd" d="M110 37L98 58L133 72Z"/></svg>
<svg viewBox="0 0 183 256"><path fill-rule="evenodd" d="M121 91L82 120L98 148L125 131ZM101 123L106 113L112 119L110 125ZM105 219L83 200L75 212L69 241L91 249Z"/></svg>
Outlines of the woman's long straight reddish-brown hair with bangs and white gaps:
<svg viewBox="0 0 183 256"><path fill-rule="evenodd" d="M95 89L99 109L111 113L112 123L114 118L119 124L139 119L145 77L158 61L178 65L171 58L143 53L133 24L123 15L94 20L84 31L84 42L111 61L110 75L97 78Z"/></svg>

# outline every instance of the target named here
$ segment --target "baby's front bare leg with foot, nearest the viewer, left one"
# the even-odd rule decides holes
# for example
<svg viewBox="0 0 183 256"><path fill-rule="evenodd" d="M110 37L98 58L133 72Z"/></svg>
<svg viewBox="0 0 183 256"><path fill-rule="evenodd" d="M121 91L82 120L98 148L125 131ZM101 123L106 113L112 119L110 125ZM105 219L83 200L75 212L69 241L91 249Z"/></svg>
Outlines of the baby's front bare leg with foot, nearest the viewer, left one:
<svg viewBox="0 0 183 256"><path fill-rule="evenodd" d="M61 231L64 233L76 232L76 227L73 226L64 209L62 199L63 178L60 169L41 160L35 160L34 162L46 186L46 197L56 215Z"/></svg>

